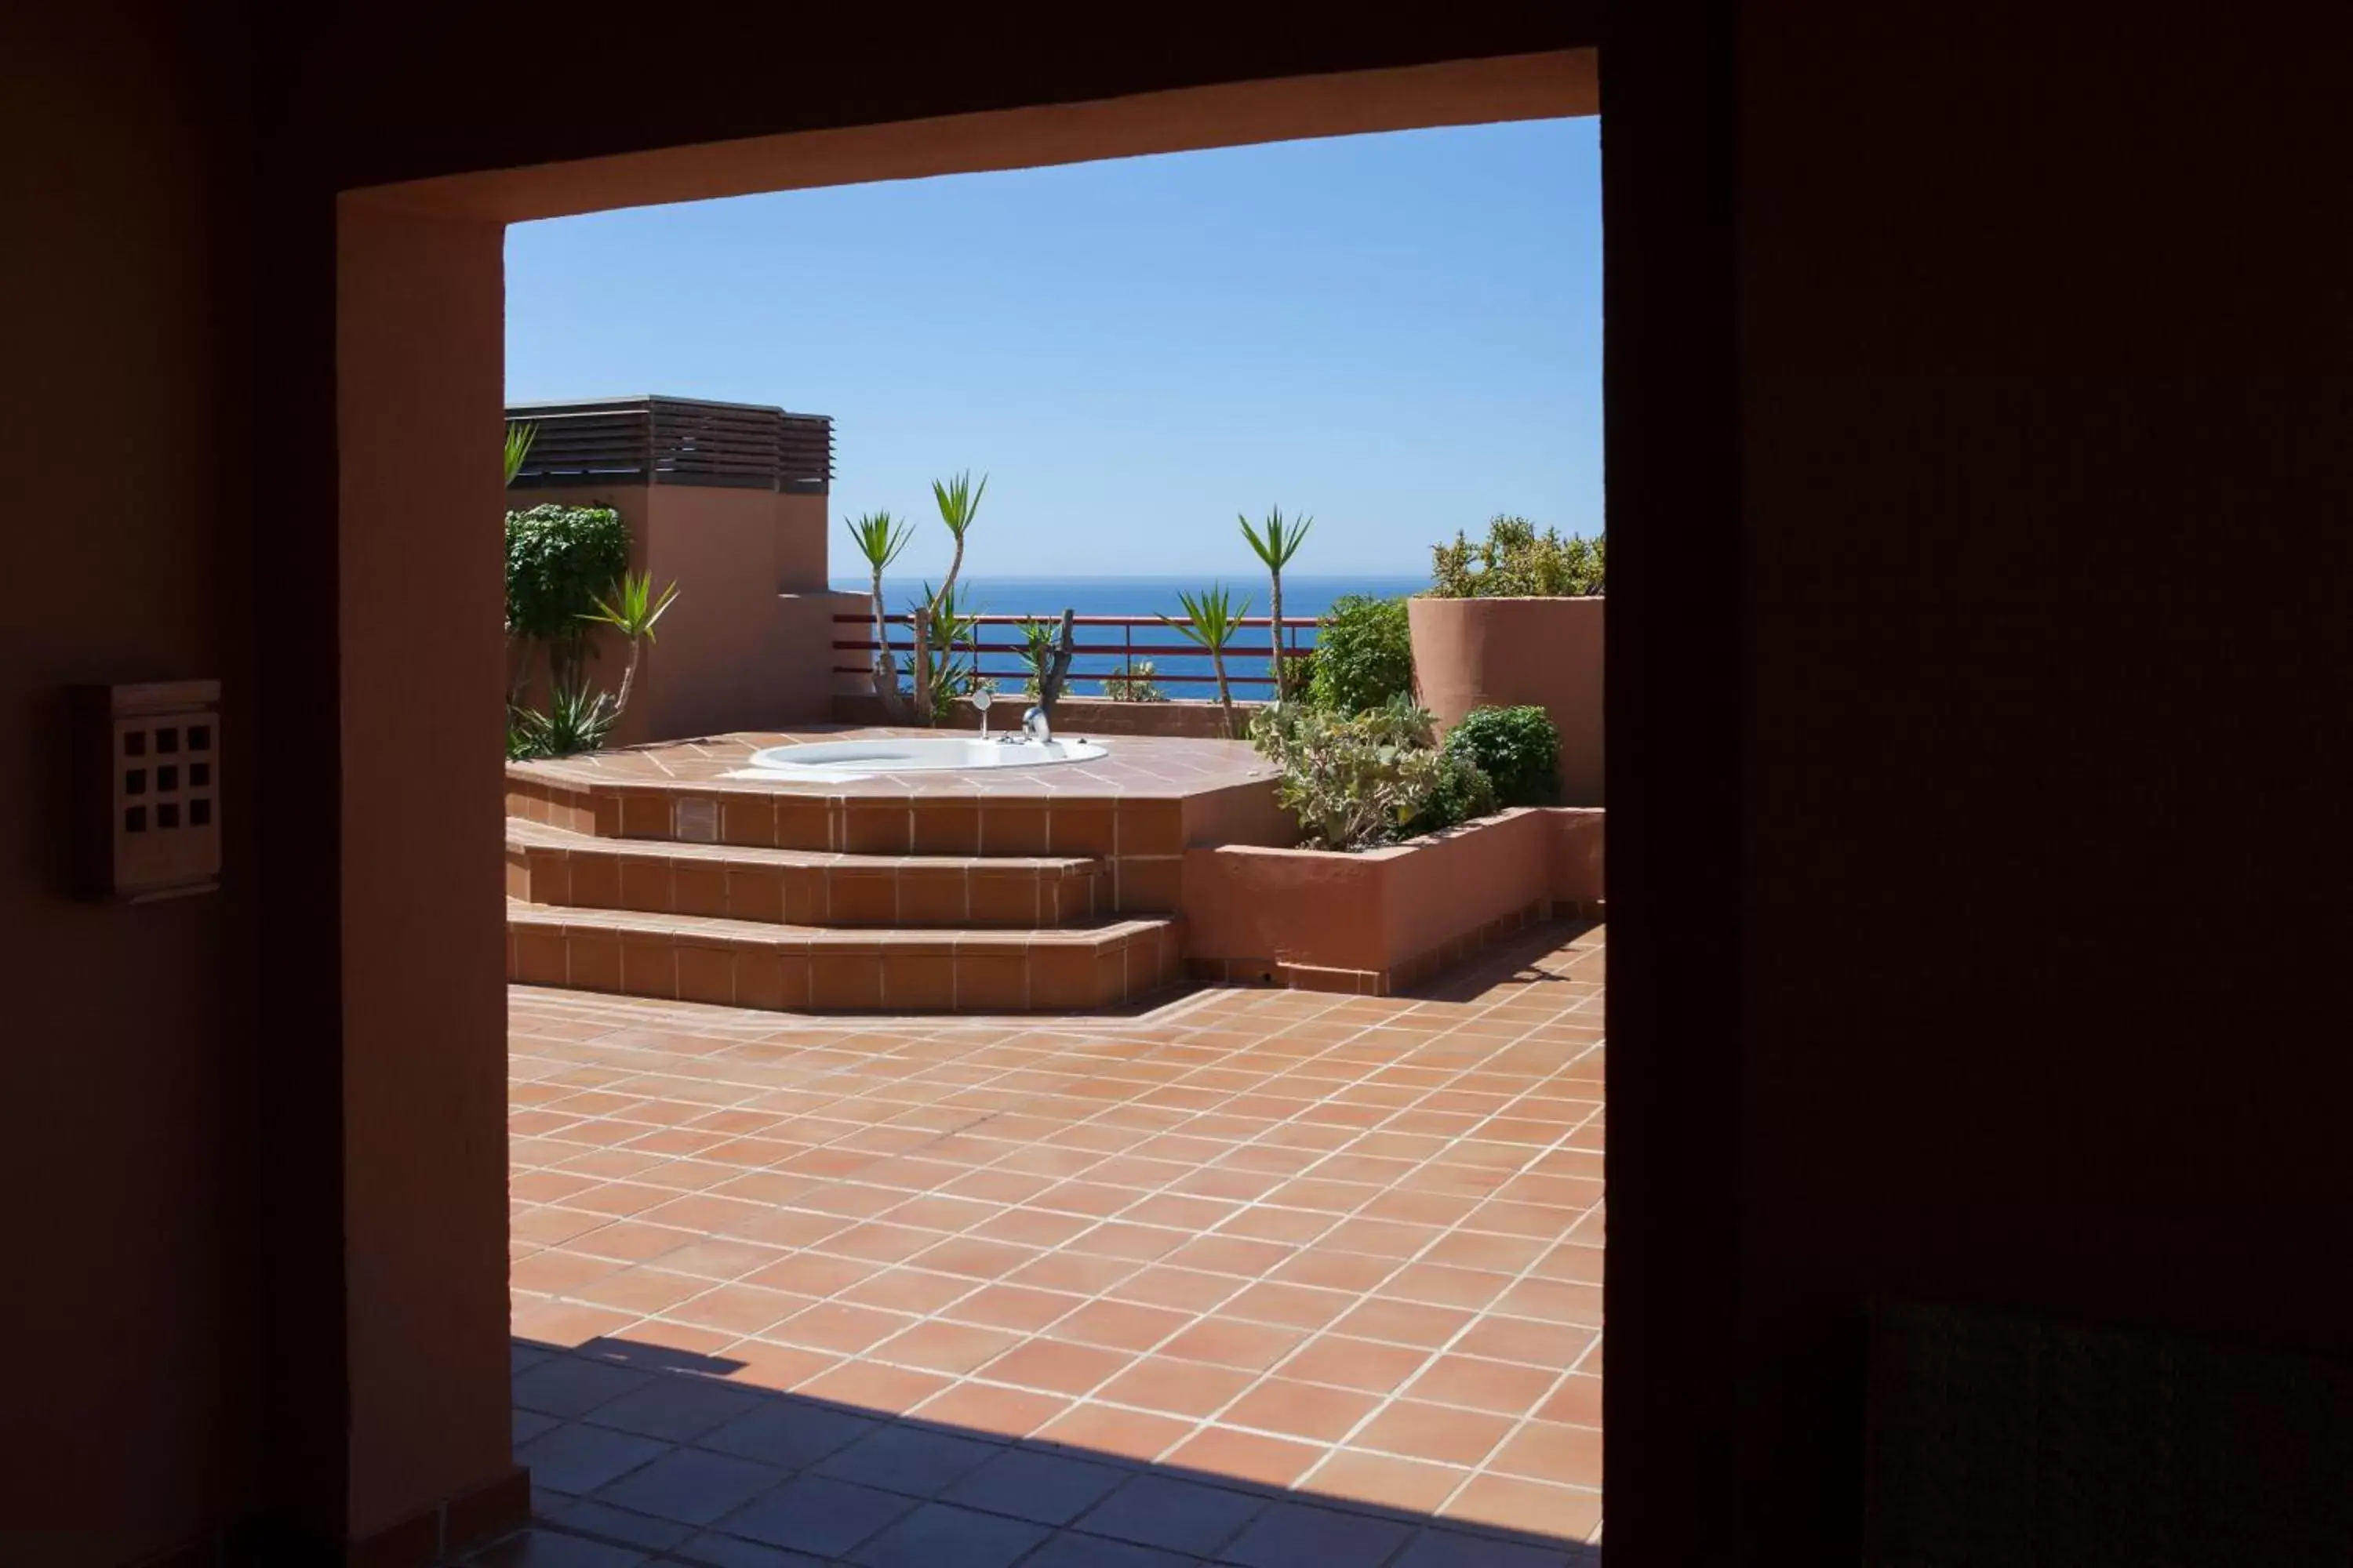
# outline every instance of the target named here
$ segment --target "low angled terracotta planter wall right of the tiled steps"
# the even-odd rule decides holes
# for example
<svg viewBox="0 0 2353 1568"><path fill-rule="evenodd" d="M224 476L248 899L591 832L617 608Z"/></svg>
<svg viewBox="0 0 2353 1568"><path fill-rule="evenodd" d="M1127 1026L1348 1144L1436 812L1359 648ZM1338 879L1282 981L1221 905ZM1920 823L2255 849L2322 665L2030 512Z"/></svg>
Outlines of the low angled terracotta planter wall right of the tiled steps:
<svg viewBox="0 0 2353 1568"><path fill-rule="evenodd" d="M1181 910L1200 980L1386 997L1546 914L1600 914L1602 813L1504 811L1362 853L1188 849Z"/></svg>

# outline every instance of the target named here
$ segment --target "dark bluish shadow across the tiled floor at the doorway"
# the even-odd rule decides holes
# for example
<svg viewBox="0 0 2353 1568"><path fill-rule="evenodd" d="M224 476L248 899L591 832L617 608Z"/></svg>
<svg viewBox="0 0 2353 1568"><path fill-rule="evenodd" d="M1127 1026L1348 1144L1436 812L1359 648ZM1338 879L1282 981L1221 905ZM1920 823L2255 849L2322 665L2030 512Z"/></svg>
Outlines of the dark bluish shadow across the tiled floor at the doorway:
<svg viewBox="0 0 2353 1568"><path fill-rule="evenodd" d="M1588 1568L1600 1547L513 1342L534 1523L473 1568Z"/></svg>

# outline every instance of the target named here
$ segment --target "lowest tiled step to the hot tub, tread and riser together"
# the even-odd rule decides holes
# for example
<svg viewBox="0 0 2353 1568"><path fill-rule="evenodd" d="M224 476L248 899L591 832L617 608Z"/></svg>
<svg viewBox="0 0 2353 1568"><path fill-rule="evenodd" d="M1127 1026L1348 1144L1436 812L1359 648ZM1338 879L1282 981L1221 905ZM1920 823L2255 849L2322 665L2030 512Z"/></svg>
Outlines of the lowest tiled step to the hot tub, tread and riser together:
<svg viewBox="0 0 2353 1568"><path fill-rule="evenodd" d="M522 985L819 1013L1019 1013L1118 1006L1176 985L1174 919L1056 931L842 931L508 900Z"/></svg>

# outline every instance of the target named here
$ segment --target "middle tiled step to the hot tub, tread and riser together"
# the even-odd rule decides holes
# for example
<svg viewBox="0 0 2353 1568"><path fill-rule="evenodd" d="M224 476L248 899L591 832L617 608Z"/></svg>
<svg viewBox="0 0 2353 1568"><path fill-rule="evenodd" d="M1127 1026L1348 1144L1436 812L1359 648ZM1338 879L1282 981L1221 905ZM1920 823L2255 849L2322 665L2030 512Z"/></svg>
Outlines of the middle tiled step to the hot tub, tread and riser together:
<svg viewBox="0 0 2353 1568"><path fill-rule="evenodd" d="M581 910L791 926L1066 926L1108 912L1085 856L842 856L600 839L506 818L506 896Z"/></svg>

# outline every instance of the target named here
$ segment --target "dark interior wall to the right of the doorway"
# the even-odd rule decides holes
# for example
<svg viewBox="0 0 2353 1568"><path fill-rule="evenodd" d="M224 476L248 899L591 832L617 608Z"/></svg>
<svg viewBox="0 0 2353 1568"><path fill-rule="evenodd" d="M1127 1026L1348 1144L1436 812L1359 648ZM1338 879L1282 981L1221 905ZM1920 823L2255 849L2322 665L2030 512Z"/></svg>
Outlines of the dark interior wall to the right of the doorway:
<svg viewBox="0 0 2353 1568"><path fill-rule="evenodd" d="M1739 38L1725 1192L1805 1561L1866 1291L2353 1352L2346 40L2089 9Z"/></svg>

